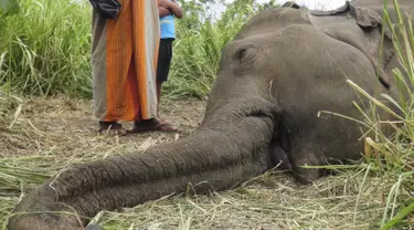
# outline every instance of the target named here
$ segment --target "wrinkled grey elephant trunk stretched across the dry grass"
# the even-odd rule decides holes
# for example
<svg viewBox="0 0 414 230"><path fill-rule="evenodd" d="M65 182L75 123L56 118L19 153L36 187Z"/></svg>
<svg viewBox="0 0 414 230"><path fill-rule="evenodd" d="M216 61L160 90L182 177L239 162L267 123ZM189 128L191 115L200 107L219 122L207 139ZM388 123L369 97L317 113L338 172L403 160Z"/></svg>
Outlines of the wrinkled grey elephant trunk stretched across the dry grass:
<svg viewBox="0 0 414 230"><path fill-rule="evenodd" d="M23 198L9 229L83 229L100 210L182 192L189 184L197 192L223 190L263 174L277 109L256 100L227 111L181 140L62 171Z"/></svg>

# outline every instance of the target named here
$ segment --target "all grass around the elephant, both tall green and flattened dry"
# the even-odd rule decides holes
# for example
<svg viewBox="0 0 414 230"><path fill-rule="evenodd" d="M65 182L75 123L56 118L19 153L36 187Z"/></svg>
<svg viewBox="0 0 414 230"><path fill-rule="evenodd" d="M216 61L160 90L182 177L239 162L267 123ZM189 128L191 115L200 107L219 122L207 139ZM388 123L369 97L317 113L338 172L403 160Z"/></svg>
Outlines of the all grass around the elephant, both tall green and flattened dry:
<svg viewBox="0 0 414 230"><path fill-rule="evenodd" d="M257 12L254 1L240 0L217 21L200 21L200 6L192 1L183 4L189 15L178 21L171 79L164 88L168 100L162 109L185 132L180 136L144 134L115 138L95 134L96 121L88 101L89 8L70 0L20 3L19 13L0 18L0 23L7 25L0 27L0 33L4 34L0 38L0 149L3 149L0 226L3 229L20 197L59 170L146 149L193 132L205 102L177 98L206 96L221 50L248 17ZM391 25L386 17L385 22ZM413 95L414 33L402 27L402 22L391 27L391 32L402 38L394 45L403 70L395 70L394 77L400 80L401 92ZM348 84L361 98L371 100L378 109L389 111L363 88L352 82ZM45 95L51 97L38 97ZM390 122L378 121L373 113L361 109L365 119L357 122L371 130L370 137L362 138L367 158L348 169L330 166L338 171L336 176L300 186L289 176L269 171L234 190L209 196L184 194L121 212L102 211L93 222L106 229L412 229L413 101L382 97L402 109L397 123L391 124L395 134L385 136L379 124ZM350 103L362 107L357 102Z"/></svg>

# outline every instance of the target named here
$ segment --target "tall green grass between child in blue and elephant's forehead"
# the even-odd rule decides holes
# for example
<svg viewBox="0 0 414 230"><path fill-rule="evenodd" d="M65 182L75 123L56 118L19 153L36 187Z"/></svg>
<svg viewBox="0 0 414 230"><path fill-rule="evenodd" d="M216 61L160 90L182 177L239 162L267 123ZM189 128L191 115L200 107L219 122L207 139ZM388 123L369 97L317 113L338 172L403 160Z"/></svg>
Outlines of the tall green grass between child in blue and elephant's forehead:
<svg viewBox="0 0 414 230"><path fill-rule="evenodd" d="M185 9L189 3L182 1L182 4ZM201 8L193 7L188 18L177 20L178 39L173 45L172 70L166 93L170 96L205 96L219 70L223 48L257 12L254 6L254 0L237 1L214 22L199 21L200 18L209 19L209 15Z"/></svg>

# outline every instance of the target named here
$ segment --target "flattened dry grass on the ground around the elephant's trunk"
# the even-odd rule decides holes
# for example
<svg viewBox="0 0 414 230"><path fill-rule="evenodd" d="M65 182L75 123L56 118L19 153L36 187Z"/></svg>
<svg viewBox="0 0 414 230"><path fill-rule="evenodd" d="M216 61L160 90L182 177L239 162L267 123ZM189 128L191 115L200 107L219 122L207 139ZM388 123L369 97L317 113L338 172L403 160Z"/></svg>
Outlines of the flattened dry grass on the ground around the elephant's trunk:
<svg viewBox="0 0 414 230"><path fill-rule="evenodd" d="M18 113L10 129L13 114L3 113L0 119L0 172L8 175L0 177L6 178L0 180L0 224L4 226L21 192L62 168L189 135L201 122L205 102L163 103L164 117L183 129L179 135L120 138L97 135L91 105L65 98L25 98L7 105ZM235 190L171 196L123 212L103 211L94 221L106 229L378 229L389 185L386 178L368 177L364 169L310 186L269 171Z"/></svg>

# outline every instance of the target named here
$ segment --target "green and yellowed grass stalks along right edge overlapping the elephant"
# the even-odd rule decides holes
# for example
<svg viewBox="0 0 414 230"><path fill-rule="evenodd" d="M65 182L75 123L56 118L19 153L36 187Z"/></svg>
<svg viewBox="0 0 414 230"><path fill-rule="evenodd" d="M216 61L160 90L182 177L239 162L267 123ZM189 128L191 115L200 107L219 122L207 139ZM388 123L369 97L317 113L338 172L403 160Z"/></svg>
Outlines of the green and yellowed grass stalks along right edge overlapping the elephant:
<svg viewBox="0 0 414 230"><path fill-rule="evenodd" d="M381 94L380 97L370 95L348 81L348 84L361 95L361 98L369 100L373 105L373 113L365 112L361 104L353 102L365 117L357 121L365 126L371 136L362 138L365 144L365 161L360 165L367 175L390 180L384 190L384 212L379 221L378 228L389 229L411 229L414 223L414 32L411 23L412 18L404 20L406 15L400 8L397 0L390 0L394 6L394 12L383 11L384 29L389 29L393 36L393 46L397 55L401 69L393 70L399 97ZM384 6L389 3L384 0ZM392 21L391 14L396 15L396 21ZM395 20L395 19L394 19ZM386 103L385 103L386 102ZM349 102L351 103L351 102ZM399 109L397 113L386 104L391 104ZM376 112L384 111L392 115L393 121L380 121ZM349 117L348 117L349 118ZM385 135L384 125L393 128L391 136Z"/></svg>

